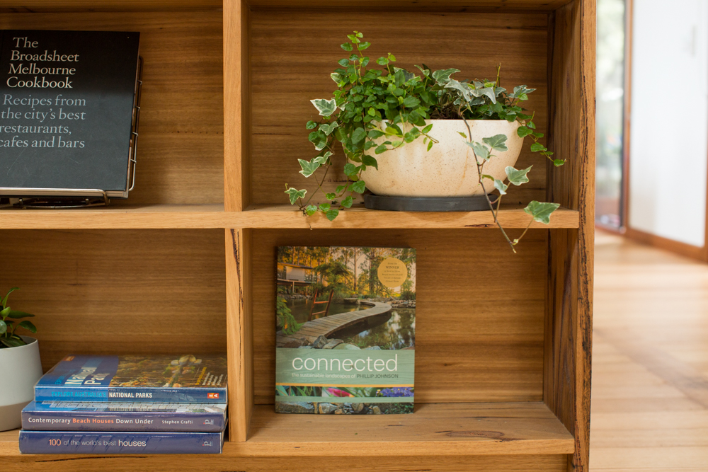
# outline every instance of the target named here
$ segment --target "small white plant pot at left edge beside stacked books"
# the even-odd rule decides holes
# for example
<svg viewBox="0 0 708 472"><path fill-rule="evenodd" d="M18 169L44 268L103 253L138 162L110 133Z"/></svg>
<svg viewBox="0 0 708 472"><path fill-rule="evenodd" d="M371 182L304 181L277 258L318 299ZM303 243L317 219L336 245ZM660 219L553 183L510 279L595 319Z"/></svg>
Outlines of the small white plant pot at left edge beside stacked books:
<svg viewBox="0 0 708 472"><path fill-rule="evenodd" d="M22 338L27 345L0 349L0 431L20 427L20 413L34 398L42 376L38 340Z"/></svg>

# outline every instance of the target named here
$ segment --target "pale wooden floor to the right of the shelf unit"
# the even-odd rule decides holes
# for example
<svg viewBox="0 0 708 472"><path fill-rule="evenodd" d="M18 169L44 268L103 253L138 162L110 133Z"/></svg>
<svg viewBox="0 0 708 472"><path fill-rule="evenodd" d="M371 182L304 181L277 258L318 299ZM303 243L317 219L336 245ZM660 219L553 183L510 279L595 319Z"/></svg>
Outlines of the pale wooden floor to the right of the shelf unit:
<svg viewBox="0 0 708 472"><path fill-rule="evenodd" d="M708 471L708 265L598 232L591 472Z"/></svg>

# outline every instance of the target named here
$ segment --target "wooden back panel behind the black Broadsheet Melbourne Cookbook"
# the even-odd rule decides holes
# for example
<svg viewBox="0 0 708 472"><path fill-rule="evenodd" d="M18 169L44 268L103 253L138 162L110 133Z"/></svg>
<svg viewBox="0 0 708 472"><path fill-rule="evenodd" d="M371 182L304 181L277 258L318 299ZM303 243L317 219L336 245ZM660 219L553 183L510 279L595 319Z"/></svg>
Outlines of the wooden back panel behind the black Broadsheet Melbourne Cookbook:
<svg viewBox="0 0 708 472"><path fill-rule="evenodd" d="M222 13L7 13L0 29L139 31L135 190L113 205L223 204Z"/></svg>

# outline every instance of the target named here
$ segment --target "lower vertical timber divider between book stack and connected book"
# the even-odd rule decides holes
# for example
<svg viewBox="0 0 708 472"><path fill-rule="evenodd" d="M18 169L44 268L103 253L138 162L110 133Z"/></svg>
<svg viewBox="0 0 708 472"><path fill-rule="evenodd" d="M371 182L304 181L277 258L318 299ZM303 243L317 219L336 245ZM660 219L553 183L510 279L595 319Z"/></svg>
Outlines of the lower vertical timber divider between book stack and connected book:
<svg viewBox="0 0 708 472"><path fill-rule="evenodd" d="M226 229L229 440L246 441L253 409L251 230Z"/></svg>

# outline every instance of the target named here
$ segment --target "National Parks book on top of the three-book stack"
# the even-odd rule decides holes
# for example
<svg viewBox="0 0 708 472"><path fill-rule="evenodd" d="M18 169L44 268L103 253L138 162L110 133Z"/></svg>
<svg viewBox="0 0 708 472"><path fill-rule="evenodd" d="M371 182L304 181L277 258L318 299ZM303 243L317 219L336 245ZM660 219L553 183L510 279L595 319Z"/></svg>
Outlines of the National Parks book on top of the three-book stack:
<svg viewBox="0 0 708 472"><path fill-rule="evenodd" d="M227 403L227 359L68 355L37 382L35 401Z"/></svg>

